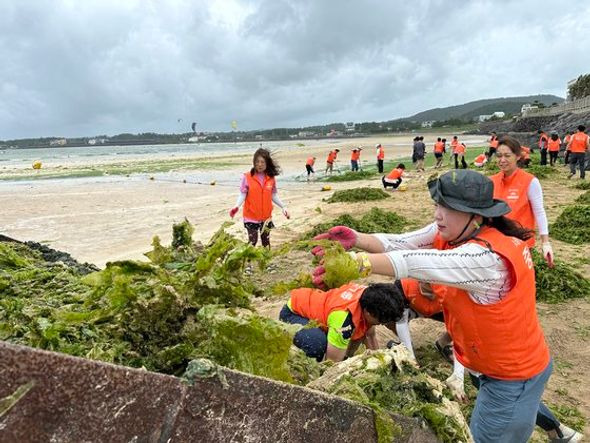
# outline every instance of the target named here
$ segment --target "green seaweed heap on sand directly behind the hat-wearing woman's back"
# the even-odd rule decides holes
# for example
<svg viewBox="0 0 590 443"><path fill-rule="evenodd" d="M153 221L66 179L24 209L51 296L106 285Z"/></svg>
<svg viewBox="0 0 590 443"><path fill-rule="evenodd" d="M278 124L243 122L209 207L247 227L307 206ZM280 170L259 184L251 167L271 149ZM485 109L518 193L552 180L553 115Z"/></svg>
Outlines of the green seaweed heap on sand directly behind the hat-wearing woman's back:
<svg viewBox="0 0 590 443"><path fill-rule="evenodd" d="M590 296L590 280L576 272L571 265L556 259L553 268L550 268L540 252L531 249L531 253L535 266L537 300L561 303Z"/></svg>

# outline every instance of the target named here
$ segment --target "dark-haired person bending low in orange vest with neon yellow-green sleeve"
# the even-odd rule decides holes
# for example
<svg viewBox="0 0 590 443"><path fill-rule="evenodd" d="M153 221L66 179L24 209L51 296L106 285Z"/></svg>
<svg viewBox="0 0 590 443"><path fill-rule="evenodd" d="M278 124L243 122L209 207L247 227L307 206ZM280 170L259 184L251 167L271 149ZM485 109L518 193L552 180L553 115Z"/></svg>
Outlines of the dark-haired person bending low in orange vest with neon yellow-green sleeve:
<svg viewBox="0 0 590 443"><path fill-rule="evenodd" d="M377 349L374 326L397 322L404 305L403 294L391 283L349 283L329 291L300 288L291 291L279 319L300 325L317 322L318 327L298 331L293 343L317 361L342 361L361 341Z"/></svg>

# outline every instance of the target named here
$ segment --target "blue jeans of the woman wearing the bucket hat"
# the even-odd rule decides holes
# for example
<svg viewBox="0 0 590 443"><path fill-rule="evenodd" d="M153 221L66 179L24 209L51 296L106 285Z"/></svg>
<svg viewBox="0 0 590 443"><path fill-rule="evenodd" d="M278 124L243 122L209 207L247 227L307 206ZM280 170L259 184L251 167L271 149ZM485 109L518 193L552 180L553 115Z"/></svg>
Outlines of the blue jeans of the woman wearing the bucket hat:
<svg viewBox="0 0 590 443"><path fill-rule="evenodd" d="M543 372L527 380L507 381L480 376L479 392L469 424L473 439L477 443L526 442L533 433L538 412L552 416L547 407L541 407L541 396L552 370L551 361Z"/></svg>

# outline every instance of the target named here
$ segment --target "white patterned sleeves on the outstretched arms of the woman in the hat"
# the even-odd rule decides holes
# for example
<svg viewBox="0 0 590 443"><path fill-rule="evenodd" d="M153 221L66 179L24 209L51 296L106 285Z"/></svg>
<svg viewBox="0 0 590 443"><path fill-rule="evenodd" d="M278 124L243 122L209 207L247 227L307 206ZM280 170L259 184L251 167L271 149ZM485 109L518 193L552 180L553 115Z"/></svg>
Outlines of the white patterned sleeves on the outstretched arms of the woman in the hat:
<svg viewBox="0 0 590 443"><path fill-rule="evenodd" d="M432 249L435 223L404 234L374 234L383 244L396 278L438 283L467 291L475 303L498 303L512 287L505 260L479 243Z"/></svg>

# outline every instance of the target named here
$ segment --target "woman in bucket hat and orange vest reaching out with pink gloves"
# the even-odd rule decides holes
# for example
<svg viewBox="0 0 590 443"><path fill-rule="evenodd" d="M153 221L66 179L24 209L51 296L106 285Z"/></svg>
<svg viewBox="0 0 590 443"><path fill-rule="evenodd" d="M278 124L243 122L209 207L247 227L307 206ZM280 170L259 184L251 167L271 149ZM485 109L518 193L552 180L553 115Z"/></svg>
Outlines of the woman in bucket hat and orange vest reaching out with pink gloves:
<svg viewBox="0 0 590 443"><path fill-rule="evenodd" d="M531 231L504 215L492 181L452 170L428 183L434 223L404 234L337 226L326 238L356 253L359 269L447 286L443 312L454 357L478 374L470 422L476 442L526 442L552 370L535 310ZM322 269L314 271L322 284Z"/></svg>

